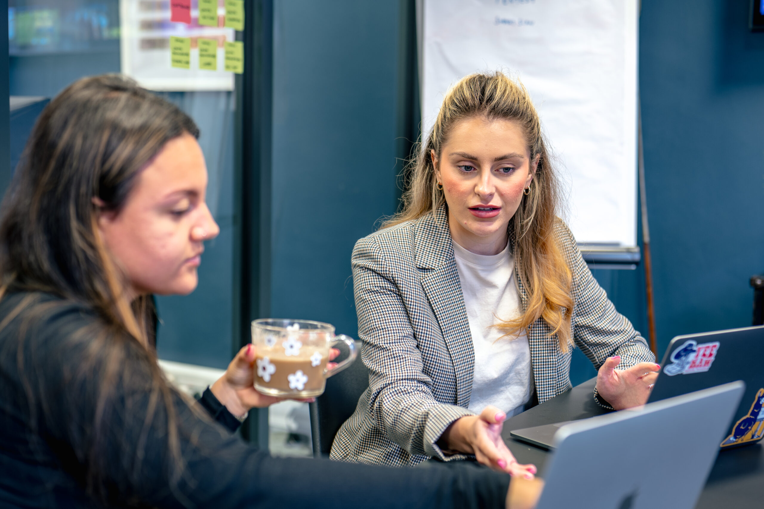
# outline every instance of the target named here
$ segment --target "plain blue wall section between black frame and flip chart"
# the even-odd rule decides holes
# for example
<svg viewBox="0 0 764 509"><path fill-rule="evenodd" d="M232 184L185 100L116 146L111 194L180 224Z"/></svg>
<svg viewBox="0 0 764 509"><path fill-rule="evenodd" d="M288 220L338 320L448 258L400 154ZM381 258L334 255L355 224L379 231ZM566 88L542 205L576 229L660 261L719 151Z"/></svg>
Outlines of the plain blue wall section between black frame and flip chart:
<svg viewBox="0 0 764 509"><path fill-rule="evenodd" d="M270 314L354 335L350 257L396 211L403 2L276 2Z"/></svg>

